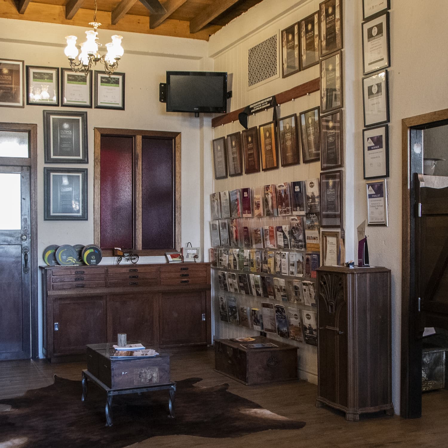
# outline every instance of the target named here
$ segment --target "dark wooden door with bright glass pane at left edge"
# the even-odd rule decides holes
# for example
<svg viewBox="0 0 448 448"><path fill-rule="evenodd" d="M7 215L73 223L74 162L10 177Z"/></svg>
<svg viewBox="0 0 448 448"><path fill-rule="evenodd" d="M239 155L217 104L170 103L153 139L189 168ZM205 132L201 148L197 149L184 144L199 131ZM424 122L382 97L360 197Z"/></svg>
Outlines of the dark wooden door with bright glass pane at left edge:
<svg viewBox="0 0 448 448"><path fill-rule="evenodd" d="M0 166L0 360L31 357L30 168Z"/></svg>

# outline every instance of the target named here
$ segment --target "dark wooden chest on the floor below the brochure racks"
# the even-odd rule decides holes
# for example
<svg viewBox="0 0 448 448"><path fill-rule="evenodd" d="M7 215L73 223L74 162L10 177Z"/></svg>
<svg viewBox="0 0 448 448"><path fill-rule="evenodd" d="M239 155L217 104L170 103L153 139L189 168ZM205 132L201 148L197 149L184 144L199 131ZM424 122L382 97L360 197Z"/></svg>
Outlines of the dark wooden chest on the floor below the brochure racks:
<svg viewBox="0 0 448 448"><path fill-rule="evenodd" d="M277 347L244 347L269 342ZM263 336L252 342L216 339L215 370L247 385L296 379L297 347Z"/></svg>

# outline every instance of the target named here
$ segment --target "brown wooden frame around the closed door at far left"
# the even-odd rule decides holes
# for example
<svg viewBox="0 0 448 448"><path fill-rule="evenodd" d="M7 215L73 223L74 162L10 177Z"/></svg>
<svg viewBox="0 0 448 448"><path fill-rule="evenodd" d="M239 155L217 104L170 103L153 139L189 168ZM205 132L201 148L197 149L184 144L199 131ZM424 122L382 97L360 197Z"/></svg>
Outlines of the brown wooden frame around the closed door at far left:
<svg viewBox="0 0 448 448"><path fill-rule="evenodd" d="M31 313L31 358L39 358L39 306L38 306L38 262L37 262L37 125L29 123L0 123L4 131L27 131L30 135L30 157L8 157L1 165L30 167L30 313ZM6 158L5 158L6 159Z"/></svg>

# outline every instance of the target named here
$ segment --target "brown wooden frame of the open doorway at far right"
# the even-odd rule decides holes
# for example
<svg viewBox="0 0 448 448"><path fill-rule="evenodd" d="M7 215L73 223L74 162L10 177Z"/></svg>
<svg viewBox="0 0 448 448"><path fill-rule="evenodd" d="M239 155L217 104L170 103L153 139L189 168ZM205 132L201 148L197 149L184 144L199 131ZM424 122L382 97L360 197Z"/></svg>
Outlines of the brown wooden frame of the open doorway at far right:
<svg viewBox="0 0 448 448"><path fill-rule="evenodd" d="M401 380L400 414L405 418L422 415L422 339L418 338L418 302L415 292L413 249L411 128L448 120L448 109L404 118L401 121ZM412 247L411 247L412 246Z"/></svg>

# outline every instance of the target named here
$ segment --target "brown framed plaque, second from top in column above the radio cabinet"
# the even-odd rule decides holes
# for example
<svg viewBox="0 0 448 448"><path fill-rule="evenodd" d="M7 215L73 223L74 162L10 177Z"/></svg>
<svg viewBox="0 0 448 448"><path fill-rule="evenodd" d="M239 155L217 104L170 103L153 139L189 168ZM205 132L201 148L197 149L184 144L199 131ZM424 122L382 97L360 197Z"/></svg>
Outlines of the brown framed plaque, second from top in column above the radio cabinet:
<svg viewBox="0 0 448 448"><path fill-rule="evenodd" d="M321 60L321 112L342 108L342 53Z"/></svg>

